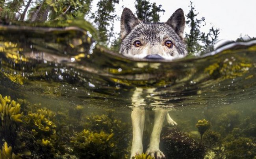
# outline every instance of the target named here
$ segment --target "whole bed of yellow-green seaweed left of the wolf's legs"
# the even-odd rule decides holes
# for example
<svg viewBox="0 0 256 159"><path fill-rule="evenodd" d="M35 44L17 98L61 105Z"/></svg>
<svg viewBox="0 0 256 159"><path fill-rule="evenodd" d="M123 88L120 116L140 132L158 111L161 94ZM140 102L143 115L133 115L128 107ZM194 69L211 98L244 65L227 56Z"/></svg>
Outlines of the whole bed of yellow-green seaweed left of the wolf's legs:
<svg viewBox="0 0 256 159"><path fill-rule="evenodd" d="M0 159L129 157L131 125L113 111L86 117L78 105L74 108L81 115L78 121L69 109L55 113L41 104L17 101L0 95L0 144L4 144Z"/></svg>

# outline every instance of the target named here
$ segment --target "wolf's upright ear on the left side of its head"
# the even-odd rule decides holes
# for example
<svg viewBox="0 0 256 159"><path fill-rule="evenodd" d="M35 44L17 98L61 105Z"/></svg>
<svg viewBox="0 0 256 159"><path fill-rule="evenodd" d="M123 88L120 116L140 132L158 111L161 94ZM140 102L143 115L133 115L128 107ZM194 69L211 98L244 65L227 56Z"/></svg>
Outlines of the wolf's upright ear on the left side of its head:
<svg viewBox="0 0 256 159"><path fill-rule="evenodd" d="M121 39L124 39L138 22L139 20L135 17L132 11L128 8L124 8L121 16Z"/></svg>

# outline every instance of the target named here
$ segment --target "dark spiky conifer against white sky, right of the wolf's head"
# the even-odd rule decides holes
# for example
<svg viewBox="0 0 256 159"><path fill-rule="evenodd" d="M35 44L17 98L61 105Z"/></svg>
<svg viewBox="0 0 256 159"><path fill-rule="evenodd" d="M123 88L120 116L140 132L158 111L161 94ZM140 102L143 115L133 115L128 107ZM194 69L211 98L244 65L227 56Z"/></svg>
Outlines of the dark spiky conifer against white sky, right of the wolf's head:
<svg viewBox="0 0 256 159"><path fill-rule="evenodd" d="M186 24L190 27L189 33L186 33L185 42L187 43L187 51L190 55L199 51L211 51L213 50L213 44L217 40L219 35L219 29L211 27L208 33L200 31L202 24L206 24L205 18L197 18L198 13L195 13L195 7L190 1L190 11L186 15ZM203 26L204 26L203 25Z"/></svg>

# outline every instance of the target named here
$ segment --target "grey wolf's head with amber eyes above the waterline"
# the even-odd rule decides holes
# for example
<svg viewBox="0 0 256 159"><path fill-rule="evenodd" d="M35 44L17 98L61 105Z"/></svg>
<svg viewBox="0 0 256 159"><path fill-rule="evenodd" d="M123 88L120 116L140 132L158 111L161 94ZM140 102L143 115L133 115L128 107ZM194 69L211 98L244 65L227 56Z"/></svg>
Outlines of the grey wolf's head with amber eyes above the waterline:
<svg viewBox="0 0 256 159"><path fill-rule="evenodd" d="M164 23L138 20L132 11L124 8L121 16L121 45L119 52L127 57L173 59L187 54L183 42L185 17L177 9Z"/></svg>

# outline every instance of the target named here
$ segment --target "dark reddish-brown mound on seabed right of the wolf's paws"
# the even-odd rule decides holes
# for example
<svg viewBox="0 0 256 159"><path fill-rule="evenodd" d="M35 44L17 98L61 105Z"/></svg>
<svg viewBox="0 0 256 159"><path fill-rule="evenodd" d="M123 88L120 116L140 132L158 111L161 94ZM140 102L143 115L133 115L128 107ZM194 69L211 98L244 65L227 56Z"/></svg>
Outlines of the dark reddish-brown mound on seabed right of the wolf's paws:
<svg viewBox="0 0 256 159"><path fill-rule="evenodd" d="M203 159L206 147L181 132L178 128L164 127L160 137L161 150L167 159Z"/></svg>

